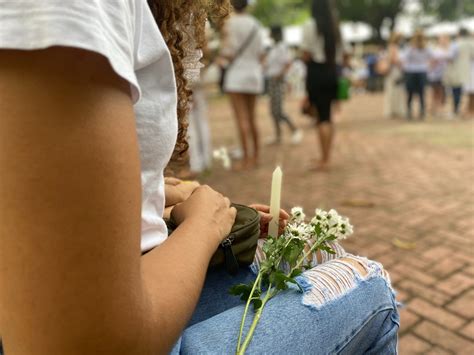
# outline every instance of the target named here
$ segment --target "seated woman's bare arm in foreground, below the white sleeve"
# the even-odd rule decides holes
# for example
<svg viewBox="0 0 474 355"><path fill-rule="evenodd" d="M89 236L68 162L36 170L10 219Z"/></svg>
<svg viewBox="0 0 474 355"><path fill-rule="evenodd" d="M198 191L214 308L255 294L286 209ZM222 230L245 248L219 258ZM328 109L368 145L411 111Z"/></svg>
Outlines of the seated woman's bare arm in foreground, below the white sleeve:
<svg viewBox="0 0 474 355"><path fill-rule="evenodd" d="M0 51L0 98L5 351L168 351L225 231L186 218L169 243L141 260L140 163L128 84L89 52ZM179 267L180 256L191 259L193 272Z"/></svg>

